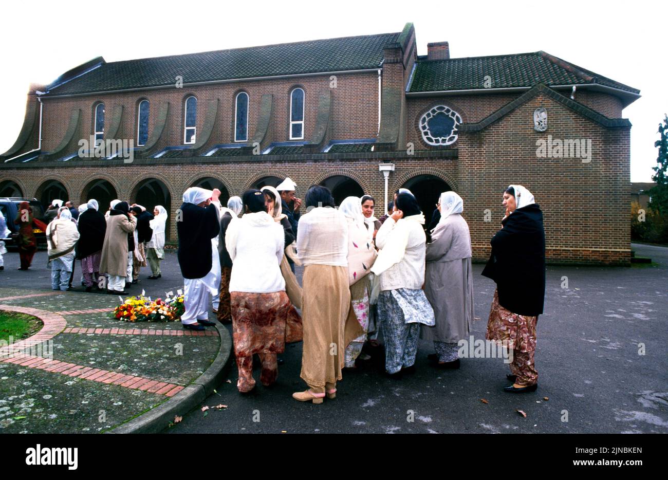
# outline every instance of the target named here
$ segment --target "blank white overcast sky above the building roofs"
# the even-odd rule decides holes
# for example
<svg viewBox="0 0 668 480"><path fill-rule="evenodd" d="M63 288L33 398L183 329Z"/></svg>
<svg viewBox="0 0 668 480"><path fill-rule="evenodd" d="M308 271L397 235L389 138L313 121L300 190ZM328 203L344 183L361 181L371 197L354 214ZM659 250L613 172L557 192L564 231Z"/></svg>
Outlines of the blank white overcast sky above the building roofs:
<svg viewBox="0 0 668 480"><path fill-rule="evenodd" d="M668 112L662 2L223 1L5 2L0 27L0 152L16 140L29 84L52 82L97 56L107 62L309 39L401 31L418 54L449 41L451 57L544 50L641 90L625 108L631 181L649 182Z"/></svg>

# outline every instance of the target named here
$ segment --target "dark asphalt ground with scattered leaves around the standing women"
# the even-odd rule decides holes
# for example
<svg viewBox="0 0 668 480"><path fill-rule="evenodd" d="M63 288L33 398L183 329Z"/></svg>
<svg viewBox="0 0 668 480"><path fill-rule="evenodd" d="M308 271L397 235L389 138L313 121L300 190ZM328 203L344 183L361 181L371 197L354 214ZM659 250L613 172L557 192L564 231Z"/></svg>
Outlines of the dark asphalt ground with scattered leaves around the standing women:
<svg viewBox="0 0 668 480"><path fill-rule="evenodd" d="M548 267L545 313L538 320L536 367L540 378L535 393L501 391L508 384L508 367L501 358L464 358L460 370L435 370L426 360L433 346L421 341L417 372L412 376L384 378L382 352L371 352L370 362L345 374L335 400L303 404L291 398L292 392L305 388L299 378L301 344L292 344L282 355L285 363L279 366L279 380L273 388L259 384L255 394L240 395L232 357L226 375L230 382L222 382L217 393L200 405L225 404L227 408L183 412L183 420L166 431L668 433L668 249L637 244L633 248L638 255L651 257L653 264ZM145 289L147 295L157 296L182 288L174 251L163 264L162 279L146 279L150 274L147 269L131 293ZM35 256L30 271L16 271L16 267L16 253L7 254L0 287L50 291L43 251ZM482 265L474 265L476 316L482 319L474 323L475 339L484 338L494 293L494 283L480 271ZM79 278L78 269L75 278ZM77 285L75 290L82 288ZM69 295L72 293L25 298L20 303L53 311L58 310L53 302L66 302ZM118 301L118 297L88 295L90 308L100 304L98 297L105 299L105 305ZM63 304L59 308L67 307ZM80 314L77 322L85 326L94 323L95 316ZM68 355L72 340L69 342L61 350ZM141 355L152 347L139 344L134 348ZM114 355L104 359L110 368L119 361ZM178 382L176 372L172 376L157 371L145 374L149 373ZM526 418L517 410L526 413Z"/></svg>

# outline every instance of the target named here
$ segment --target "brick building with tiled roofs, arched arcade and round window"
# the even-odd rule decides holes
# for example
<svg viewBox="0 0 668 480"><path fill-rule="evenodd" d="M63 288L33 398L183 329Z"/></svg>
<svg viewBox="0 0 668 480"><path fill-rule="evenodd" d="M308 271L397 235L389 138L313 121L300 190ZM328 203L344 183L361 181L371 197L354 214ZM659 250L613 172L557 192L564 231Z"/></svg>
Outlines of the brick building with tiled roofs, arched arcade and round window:
<svg viewBox="0 0 668 480"><path fill-rule="evenodd" d="M397 33L107 63L98 57L31 86L23 128L0 155L0 195L75 205L96 198L172 214L183 191L223 197L277 185L329 187L337 200L413 191L429 218L442 191L464 199L474 257L526 186L544 211L552 262L628 264L629 132L639 90L544 51L417 55ZM83 140L132 141L96 158ZM101 156L102 155L102 156ZM173 217L173 215L172 215ZM168 221L168 241L176 240Z"/></svg>

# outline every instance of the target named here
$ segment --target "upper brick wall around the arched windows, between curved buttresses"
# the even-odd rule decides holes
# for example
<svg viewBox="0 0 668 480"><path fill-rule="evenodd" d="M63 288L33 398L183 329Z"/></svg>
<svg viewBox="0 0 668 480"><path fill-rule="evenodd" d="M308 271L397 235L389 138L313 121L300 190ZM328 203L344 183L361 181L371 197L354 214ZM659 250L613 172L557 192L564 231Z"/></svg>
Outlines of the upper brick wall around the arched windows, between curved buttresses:
<svg viewBox="0 0 668 480"><path fill-rule="evenodd" d="M75 98L43 99L43 144L42 150L51 151L63 138L73 108L81 109L79 135L69 144L67 153L78 150L77 142L93 133L94 105L104 102L106 110L105 128L110 127L112 114L118 105L124 106L123 121L116 138L137 138L137 108L141 100L150 102L149 136L153 131L162 102L170 102L168 128L154 150L165 146L182 145L184 132L185 100L191 95L197 98L197 134L202 134L208 102L218 98L216 128L206 147L218 143L234 142L234 100L238 92L248 93L248 139L253 138L260 112L263 94L273 94L274 141L288 141L290 92L299 86L305 91L305 140L310 140L317 116L318 92L330 89L329 76L311 76L278 80L255 80L207 86L184 86L142 92L121 92L83 96ZM339 74L332 94L333 138L375 138L378 124L377 73Z"/></svg>

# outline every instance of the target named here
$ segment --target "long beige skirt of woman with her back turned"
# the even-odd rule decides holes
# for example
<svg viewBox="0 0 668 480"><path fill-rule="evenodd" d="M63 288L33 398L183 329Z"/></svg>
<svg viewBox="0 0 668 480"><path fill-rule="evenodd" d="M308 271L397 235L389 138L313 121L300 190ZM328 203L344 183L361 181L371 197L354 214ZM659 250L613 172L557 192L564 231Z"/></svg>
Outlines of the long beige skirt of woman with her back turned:
<svg viewBox="0 0 668 480"><path fill-rule="evenodd" d="M307 265L303 276L301 378L324 388L343 378L345 321L350 310L347 267Z"/></svg>

